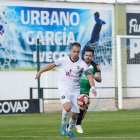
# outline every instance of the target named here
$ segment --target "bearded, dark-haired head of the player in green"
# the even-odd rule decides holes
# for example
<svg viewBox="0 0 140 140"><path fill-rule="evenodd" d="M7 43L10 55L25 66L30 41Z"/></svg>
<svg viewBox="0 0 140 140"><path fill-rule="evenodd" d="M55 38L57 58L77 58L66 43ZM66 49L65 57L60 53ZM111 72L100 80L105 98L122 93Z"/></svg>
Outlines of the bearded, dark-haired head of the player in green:
<svg viewBox="0 0 140 140"><path fill-rule="evenodd" d="M90 64L91 61L93 61L93 58L94 58L94 50L91 49L91 48L87 48L85 50L85 53L84 53L84 61L87 63L87 64Z"/></svg>

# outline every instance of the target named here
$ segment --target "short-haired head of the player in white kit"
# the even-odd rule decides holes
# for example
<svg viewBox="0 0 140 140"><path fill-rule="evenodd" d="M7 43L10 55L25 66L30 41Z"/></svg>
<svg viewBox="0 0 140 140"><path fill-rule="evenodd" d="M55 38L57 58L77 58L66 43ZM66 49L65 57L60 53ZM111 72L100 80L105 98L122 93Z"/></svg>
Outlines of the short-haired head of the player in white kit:
<svg viewBox="0 0 140 140"><path fill-rule="evenodd" d="M81 50L81 45L78 42L72 43L70 57L73 61L76 61L78 59L80 50Z"/></svg>

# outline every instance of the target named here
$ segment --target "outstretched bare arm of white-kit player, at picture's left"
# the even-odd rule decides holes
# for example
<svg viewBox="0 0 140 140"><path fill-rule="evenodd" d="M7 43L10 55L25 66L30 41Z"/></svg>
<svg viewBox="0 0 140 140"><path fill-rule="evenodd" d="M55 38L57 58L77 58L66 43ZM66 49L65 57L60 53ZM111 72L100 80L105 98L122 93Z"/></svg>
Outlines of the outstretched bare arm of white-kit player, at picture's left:
<svg viewBox="0 0 140 140"><path fill-rule="evenodd" d="M46 67L42 68L40 71L36 73L35 79L39 79L43 72L49 71L53 69L56 65L54 63L48 64Z"/></svg>

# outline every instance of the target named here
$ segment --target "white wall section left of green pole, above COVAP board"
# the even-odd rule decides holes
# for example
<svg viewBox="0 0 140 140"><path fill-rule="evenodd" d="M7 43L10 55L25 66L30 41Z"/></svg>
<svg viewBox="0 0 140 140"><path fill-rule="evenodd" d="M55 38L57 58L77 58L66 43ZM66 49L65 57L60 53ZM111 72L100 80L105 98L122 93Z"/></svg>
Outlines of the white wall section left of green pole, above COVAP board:
<svg viewBox="0 0 140 140"><path fill-rule="evenodd" d="M0 72L0 99L29 99L29 87L36 85L35 72Z"/></svg>

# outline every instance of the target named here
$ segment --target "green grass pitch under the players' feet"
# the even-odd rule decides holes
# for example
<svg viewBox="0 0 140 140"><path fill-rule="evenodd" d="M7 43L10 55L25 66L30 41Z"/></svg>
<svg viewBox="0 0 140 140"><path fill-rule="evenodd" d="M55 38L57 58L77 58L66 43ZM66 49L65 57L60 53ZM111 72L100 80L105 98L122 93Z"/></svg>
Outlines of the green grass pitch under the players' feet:
<svg viewBox="0 0 140 140"><path fill-rule="evenodd" d="M68 140L59 135L61 112L1 115L0 140ZM140 140L140 110L88 112L76 140Z"/></svg>

